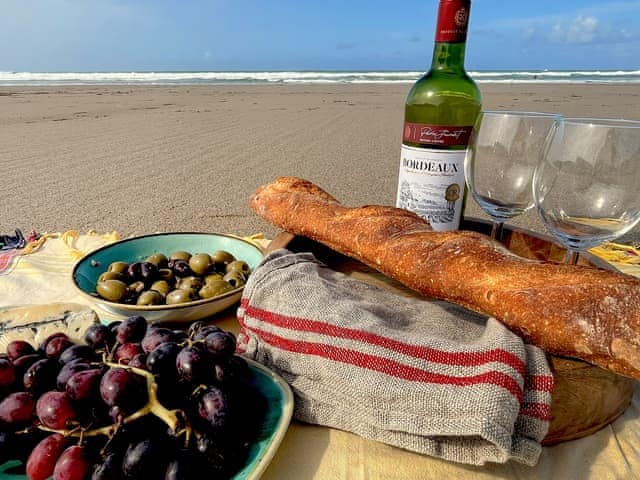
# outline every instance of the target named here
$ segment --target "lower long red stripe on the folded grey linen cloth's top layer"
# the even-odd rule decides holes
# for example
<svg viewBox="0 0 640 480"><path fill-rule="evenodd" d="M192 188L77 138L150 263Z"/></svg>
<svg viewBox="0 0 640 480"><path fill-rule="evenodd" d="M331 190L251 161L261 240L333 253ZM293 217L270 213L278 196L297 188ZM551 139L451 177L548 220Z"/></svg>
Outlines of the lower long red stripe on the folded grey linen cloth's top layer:
<svg viewBox="0 0 640 480"><path fill-rule="evenodd" d="M246 325L245 329L252 331L258 335L262 341L281 350L327 358L336 362L381 372L391 377L413 382L435 383L439 385L451 385L458 387L480 384L495 385L511 393L518 403L522 402L523 393L518 382L509 375L495 370L481 373L479 375L456 377L453 375L445 375L416 367L410 367L394 360L347 348L335 347L324 343L290 340L259 328L247 327Z"/></svg>

